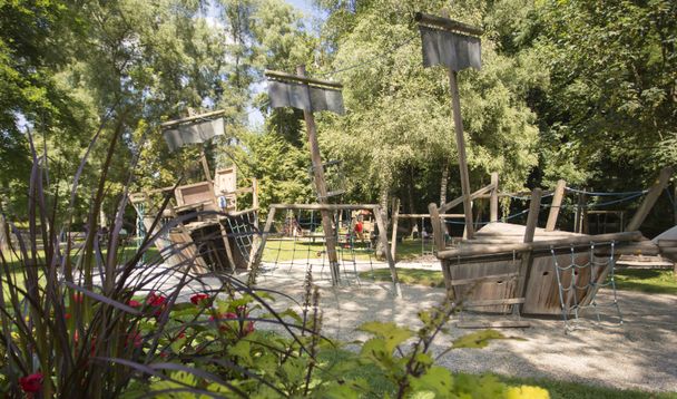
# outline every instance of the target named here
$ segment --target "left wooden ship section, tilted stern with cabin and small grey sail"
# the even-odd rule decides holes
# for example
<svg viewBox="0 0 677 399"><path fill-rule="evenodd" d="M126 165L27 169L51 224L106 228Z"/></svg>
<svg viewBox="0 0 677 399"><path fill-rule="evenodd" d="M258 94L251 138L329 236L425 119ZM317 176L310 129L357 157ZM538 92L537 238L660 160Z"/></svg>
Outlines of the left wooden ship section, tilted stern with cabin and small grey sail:
<svg viewBox="0 0 677 399"><path fill-rule="evenodd" d="M223 111L214 111L163 124L170 150L185 145L202 144L224 134ZM137 212L137 232L148 235L165 231L155 245L167 256L169 266L196 265L202 271L235 272L249 264L253 226L257 225L257 184L237 187L236 166L209 171L204 149L200 163L205 179L198 183L165 187L129 195ZM239 210L238 197L252 194L252 207ZM166 195L169 205L158 213ZM154 201L158 199L160 201ZM159 217L160 223L156 223Z"/></svg>

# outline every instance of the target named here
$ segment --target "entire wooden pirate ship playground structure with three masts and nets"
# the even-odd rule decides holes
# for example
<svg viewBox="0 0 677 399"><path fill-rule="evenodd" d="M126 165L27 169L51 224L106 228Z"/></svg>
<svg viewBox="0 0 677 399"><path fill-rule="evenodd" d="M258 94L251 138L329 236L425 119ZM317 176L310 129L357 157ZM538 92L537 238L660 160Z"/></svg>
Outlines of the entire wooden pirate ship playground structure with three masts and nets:
<svg viewBox="0 0 677 399"><path fill-rule="evenodd" d="M344 188L333 188L333 178L327 178L330 167L340 166L338 162L323 163L316 138L313 111L330 110L343 114L342 85L335 81L308 78L305 68L300 66L296 75L266 71L271 105L302 109L310 144L316 204L274 204L271 205L265 226L258 230L258 207L256 202L256 182L251 188L236 187L236 169L216 171L214 179L204 152L202 156L206 179L192 185L160 189L158 193L174 191L176 203L164 214L164 217L179 216L183 222L173 228L163 245L184 245L184 251L171 262L195 259L200 267L234 272L251 269L254 274L263 273L269 266L286 264L288 267L303 265L306 270L321 267L321 274L327 266L333 285L342 284L349 269L359 282L360 271L373 267L372 257L375 247L391 272L393 292L401 295L398 271L395 267L398 223L403 218L430 220L432 226L432 253L441 262L447 289L454 301L464 309L480 309L483 312L514 313L513 322L498 324L481 323L468 327L527 327L519 320L524 314L561 314L565 320L579 310L595 305L599 288L609 285L615 289L614 267L617 256L632 256L638 252L644 255L665 254L668 257L677 246L677 240L663 240L651 243L638 231L658 195L667 185L671 171L664 169L660 178L649 191L630 193L620 201L646 195L639 210L625 226L624 211L588 210L583 206L589 196L609 193L577 191L560 181L552 192L534 189L528 196L529 208L513 215L499 217L499 198L520 198L521 193L502 193L499 191L499 175L491 175L491 184L475 192L470 192L470 181L465 160L463 125L461 119L460 98L457 72L467 67L481 67L480 39L481 30L445 18L418 14L423 41L425 66L441 64L449 68L449 80L452 96L454 134L457 137L462 195L447 204L431 204L428 214L400 214L399 206L392 212L392 240L387 241L389 226L385 211L373 204L333 204L332 201L344 193ZM164 124L168 133L170 148L185 144L203 143L218 135L218 126L213 118L218 114L210 113L198 117L184 118ZM203 127L209 124L205 130ZM181 127L183 126L183 127ZM223 130L223 125L220 125ZM223 134L223 132L220 133ZM197 138L195 137L197 135ZM341 178L338 178L341 181ZM327 183L328 182L328 183ZM238 211L237 195L252 192L254 206ZM575 232L556 231L559 212L565 205L567 193L579 196L576 207ZM130 196L139 214L140 226L148 228L153 210L146 208L149 198L157 193L139 193ZM549 205L541 204L542 198L552 197ZM488 223L477 223L472 215L472 202L487 198L490 203ZM521 199L521 198L520 198ZM615 203L611 201L607 203ZM463 205L462 213L449 213ZM600 204L598 204L600 205ZM538 228L541 207L549 207L544 228ZM222 214L218 214L223 212ZM374 218L373 226L357 222L361 212L367 212ZM304 216L303 213L306 215ZM604 228L609 225L608 216L618 216L617 233L588 235L588 216L597 215ZM526 225L511 222L526 216ZM463 222L454 222L462 218ZM357 228L359 224L359 228ZM422 222L421 240L424 237ZM464 237L453 242L448 240L449 224L462 224ZM483 226L482 226L483 225ZM477 228L481 227L481 228ZM374 234L375 231L379 234ZM450 242L451 241L451 242ZM292 243L291 246L287 244ZM451 244L451 245L450 245ZM266 249L275 251L276 257L266 255ZM302 261L295 264L298 249ZM424 245L422 246L424 250ZM344 251L347 250L347 251ZM292 252L290 260L282 255ZM271 252L271 251L268 251ZM424 251L422 251L424 252ZM305 254L305 256L304 256ZM366 269L369 267L369 269ZM617 311L620 311L616 305Z"/></svg>

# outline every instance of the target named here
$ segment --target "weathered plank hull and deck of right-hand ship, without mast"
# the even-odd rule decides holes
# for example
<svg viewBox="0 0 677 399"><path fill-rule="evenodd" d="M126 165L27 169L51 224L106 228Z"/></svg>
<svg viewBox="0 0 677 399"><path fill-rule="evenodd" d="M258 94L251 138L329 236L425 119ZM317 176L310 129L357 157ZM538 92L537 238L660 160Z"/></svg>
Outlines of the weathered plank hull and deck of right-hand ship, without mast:
<svg viewBox="0 0 677 399"><path fill-rule="evenodd" d="M607 245L609 242L599 240L605 236L536 228L533 243L526 244L524 233L523 225L492 223L478 231L473 240L463 240L439 253L448 286L453 289L457 300L472 311L508 313L513 306L521 306L524 314L561 314L556 263L587 264L590 241L598 243L600 250L605 241ZM627 236L638 237L631 233ZM553 256L550 246L557 243L561 244L555 245ZM585 286L590 281L604 281L607 273L607 266L573 267L561 272L561 282L568 286L576 276L577 285ZM577 290L576 294L568 293L566 301L585 303L591 294L591 290ZM478 305L482 308L474 309Z"/></svg>

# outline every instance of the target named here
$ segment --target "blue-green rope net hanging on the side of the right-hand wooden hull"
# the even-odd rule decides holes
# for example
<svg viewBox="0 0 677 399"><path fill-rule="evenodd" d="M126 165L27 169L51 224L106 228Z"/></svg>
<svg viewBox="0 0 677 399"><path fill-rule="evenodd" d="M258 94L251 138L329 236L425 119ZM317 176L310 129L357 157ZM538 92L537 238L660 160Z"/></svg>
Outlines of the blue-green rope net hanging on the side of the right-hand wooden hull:
<svg viewBox="0 0 677 399"><path fill-rule="evenodd" d="M608 254L600 255L596 250L608 247ZM581 312L592 308L597 321L601 322L600 306L610 306L616 310L618 324L622 323L622 313L618 304L615 281L615 242L590 243L590 250L586 254L580 247L570 247L567 263L562 263L562 256L557 254L555 247L550 249L552 264L557 276L559 300L562 310L562 319L567 330L572 328L570 315L575 321L580 319ZM598 304L597 293L599 289L611 290L612 300L608 304Z"/></svg>

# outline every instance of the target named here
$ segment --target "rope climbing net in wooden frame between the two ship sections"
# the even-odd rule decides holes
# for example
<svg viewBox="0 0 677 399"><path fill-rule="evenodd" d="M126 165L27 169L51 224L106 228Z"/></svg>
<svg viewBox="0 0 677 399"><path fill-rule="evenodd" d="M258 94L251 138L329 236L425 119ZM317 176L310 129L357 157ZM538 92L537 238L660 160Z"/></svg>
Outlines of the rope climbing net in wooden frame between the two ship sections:
<svg viewBox="0 0 677 399"><path fill-rule="evenodd" d="M310 271L317 282L357 286L364 278L375 280L375 269L391 265L377 210L376 205L273 205L254 255L255 273L265 279L303 279ZM333 233L328 236L326 223Z"/></svg>

